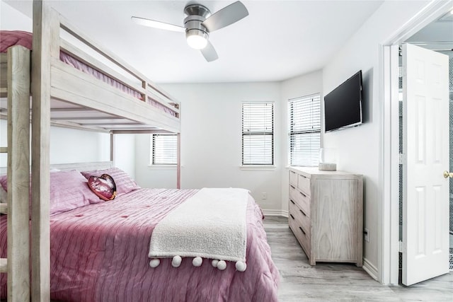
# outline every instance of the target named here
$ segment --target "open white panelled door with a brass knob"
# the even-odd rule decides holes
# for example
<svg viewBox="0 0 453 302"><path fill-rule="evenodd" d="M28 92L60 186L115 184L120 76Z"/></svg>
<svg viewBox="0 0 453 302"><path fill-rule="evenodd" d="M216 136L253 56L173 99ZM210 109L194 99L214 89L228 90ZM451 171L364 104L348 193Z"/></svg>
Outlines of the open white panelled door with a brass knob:
<svg viewBox="0 0 453 302"><path fill-rule="evenodd" d="M449 272L448 57L403 45L403 284Z"/></svg>

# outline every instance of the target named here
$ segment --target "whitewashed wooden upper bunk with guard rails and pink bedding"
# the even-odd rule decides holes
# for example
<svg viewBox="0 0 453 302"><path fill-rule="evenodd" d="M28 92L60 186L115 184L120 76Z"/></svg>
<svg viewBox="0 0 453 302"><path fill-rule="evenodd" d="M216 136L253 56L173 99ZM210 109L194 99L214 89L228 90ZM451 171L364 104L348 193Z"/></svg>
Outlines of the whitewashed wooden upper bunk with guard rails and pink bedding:
<svg viewBox="0 0 453 302"><path fill-rule="evenodd" d="M31 58L40 62L37 72L49 74L48 80L45 74L40 76L49 81L52 125L112 134L180 132L178 101L74 28L57 11L50 7L45 9L46 18L39 27L42 30L33 34L33 49L41 45L38 45L38 53L33 54L32 50ZM1 36L15 34L3 33ZM18 35L30 39L28 44L31 45L31 34L20 32ZM22 46L11 46L8 50L11 48L20 48L11 52L11 62L22 61L16 56L30 55ZM35 64L30 66L35 68ZM28 76L32 82L33 68ZM15 85L14 76L8 75L7 53L0 54L0 71L0 117L6 118L8 85ZM12 72L30 73L30 70L25 67Z"/></svg>

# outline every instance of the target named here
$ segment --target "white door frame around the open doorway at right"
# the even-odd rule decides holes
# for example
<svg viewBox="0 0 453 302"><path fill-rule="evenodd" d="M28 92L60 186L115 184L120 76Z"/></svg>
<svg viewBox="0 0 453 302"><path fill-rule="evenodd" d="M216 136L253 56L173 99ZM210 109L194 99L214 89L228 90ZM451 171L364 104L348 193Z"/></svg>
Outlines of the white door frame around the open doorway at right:
<svg viewBox="0 0 453 302"><path fill-rule="evenodd" d="M453 1L431 1L379 45L379 218L378 279L398 284L399 112L398 45L452 9Z"/></svg>

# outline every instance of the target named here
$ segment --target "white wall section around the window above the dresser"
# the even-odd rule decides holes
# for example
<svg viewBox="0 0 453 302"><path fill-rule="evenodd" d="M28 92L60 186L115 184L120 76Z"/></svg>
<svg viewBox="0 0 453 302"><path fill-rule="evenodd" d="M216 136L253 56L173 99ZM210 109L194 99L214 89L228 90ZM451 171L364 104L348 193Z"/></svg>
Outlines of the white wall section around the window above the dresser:
<svg viewBox="0 0 453 302"><path fill-rule="evenodd" d="M282 158L282 210L288 211L288 200L289 200L289 170L287 166L289 164L288 160L288 122L287 122L287 103L288 100L292 98L298 98L305 95L312 95L314 93L321 93L322 99L322 71L314 71L310 74L305 74L303 76L297 76L293 79L283 81L281 83L281 96L282 101L280 104L281 108L281 119L282 119L282 131L280 132L281 136L281 153L280 157Z"/></svg>

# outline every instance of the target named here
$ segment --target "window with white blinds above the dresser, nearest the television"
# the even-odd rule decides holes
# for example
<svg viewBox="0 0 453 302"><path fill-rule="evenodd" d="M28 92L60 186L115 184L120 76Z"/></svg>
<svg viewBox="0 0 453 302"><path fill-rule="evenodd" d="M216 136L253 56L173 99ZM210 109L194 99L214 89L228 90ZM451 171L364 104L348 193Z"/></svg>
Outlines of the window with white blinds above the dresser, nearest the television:
<svg viewBox="0 0 453 302"><path fill-rule="evenodd" d="M288 102L289 165L316 166L321 147L321 95Z"/></svg>

